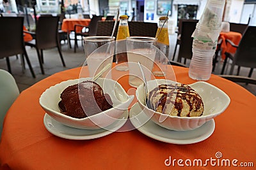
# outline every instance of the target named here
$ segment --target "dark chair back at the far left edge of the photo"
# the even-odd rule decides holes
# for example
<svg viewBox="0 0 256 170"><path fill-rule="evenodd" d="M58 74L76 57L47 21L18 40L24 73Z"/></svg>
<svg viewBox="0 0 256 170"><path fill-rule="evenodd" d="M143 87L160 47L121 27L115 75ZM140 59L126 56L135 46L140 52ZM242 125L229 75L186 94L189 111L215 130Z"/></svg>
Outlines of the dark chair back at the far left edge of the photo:
<svg viewBox="0 0 256 170"><path fill-rule="evenodd" d="M24 17L0 17L0 59L24 53Z"/></svg>

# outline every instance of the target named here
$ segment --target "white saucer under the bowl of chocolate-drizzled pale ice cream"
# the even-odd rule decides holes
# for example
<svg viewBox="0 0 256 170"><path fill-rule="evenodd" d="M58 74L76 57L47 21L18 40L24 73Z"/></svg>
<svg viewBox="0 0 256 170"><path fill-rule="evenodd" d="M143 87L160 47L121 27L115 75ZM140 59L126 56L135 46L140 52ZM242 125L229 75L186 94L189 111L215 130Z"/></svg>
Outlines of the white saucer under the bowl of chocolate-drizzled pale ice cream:
<svg viewBox="0 0 256 170"><path fill-rule="evenodd" d="M152 120L148 120L147 115L143 113L138 103L132 106L129 117L132 125L141 133L158 141L173 144L191 144L204 141L211 136L215 129L213 118L201 127L191 131L172 131L165 129L152 122ZM145 123L145 121L147 122Z"/></svg>

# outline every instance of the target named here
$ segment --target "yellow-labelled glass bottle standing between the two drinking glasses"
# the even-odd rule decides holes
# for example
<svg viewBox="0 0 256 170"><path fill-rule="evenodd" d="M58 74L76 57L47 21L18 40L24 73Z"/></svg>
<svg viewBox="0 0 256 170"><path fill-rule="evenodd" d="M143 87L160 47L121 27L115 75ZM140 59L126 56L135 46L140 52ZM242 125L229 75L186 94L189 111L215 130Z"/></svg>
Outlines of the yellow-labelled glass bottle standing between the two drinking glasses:
<svg viewBox="0 0 256 170"><path fill-rule="evenodd" d="M116 40L126 39L130 36L129 26L128 26L128 16L121 15L118 26L118 31L116 35ZM118 46L120 48L120 46ZM127 53L126 53L126 46L122 46L125 49L118 49L116 48L116 69L119 71L127 71L128 67L128 60L127 60ZM118 52L118 50L120 52Z"/></svg>

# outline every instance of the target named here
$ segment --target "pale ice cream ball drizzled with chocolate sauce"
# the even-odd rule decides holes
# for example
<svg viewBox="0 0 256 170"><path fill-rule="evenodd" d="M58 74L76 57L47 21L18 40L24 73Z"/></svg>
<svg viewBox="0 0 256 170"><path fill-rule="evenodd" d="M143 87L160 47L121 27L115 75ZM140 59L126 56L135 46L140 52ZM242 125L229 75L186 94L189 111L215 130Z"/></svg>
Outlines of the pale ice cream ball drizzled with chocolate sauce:
<svg viewBox="0 0 256 170"><path fill-rule="evenodd" d="M189 85L159 85L148 93L148 108L159 113L177 117L200 117L204 103Z"/></svg>

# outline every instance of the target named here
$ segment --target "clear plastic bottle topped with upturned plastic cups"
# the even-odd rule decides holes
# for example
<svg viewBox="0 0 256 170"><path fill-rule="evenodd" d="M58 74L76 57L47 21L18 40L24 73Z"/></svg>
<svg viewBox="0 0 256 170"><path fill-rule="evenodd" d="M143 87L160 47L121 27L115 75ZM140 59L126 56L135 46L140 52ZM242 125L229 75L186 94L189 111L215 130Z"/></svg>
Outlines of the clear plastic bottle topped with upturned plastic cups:
<svg viewBox="0 0 256 170"><path fill-rule="evenodd" d="M193 56L189 65L189 77L195 80L209 80L212 71L225 0L208 0L204 13L193 33Z"/></svg>

